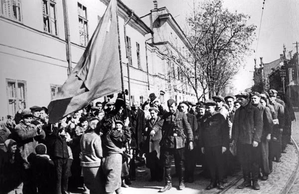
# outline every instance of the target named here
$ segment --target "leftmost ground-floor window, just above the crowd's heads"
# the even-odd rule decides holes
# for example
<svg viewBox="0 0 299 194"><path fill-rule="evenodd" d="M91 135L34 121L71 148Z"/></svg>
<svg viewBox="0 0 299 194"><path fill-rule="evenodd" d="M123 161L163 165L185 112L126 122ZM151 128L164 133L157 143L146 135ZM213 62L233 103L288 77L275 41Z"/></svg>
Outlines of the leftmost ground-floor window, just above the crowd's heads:
<svg viewBox="0 0 299 194"><path fill-rule="evenodd" d="M6 79L6 92L9 115L26 108L26 81Z"/></svg>

